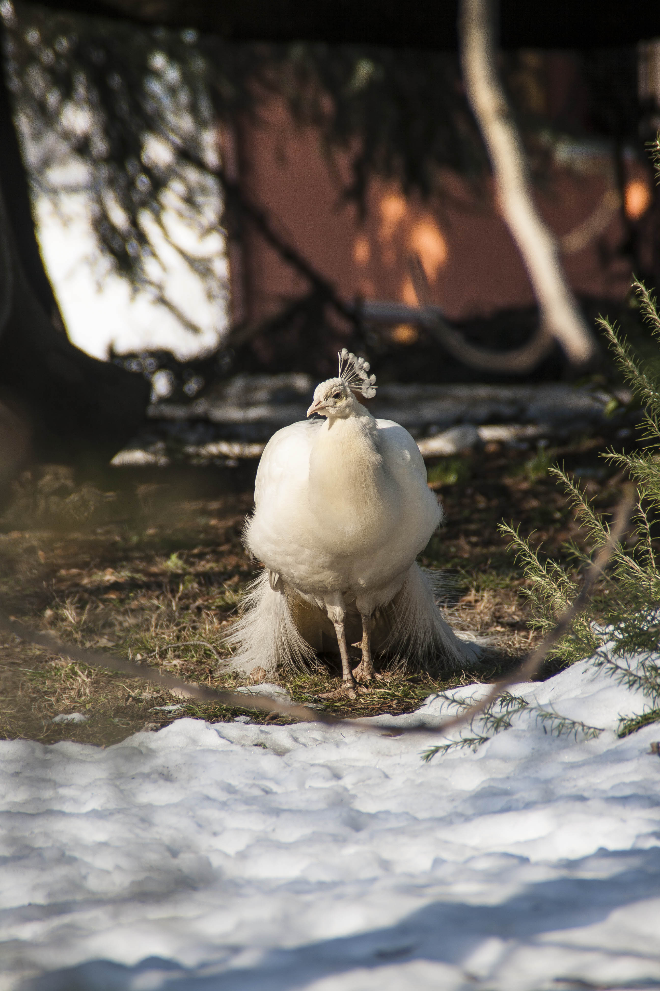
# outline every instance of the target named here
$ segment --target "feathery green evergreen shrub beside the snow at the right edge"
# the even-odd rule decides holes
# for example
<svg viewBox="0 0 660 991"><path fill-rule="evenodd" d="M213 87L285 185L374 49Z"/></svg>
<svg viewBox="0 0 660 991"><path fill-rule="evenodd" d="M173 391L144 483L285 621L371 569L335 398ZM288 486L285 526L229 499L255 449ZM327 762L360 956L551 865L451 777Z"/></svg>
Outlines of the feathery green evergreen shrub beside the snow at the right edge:
<svg viewBox="0 0 660 991"><path fill-rule="evenodd" d="M656 142L656 164L658 154ZM638 279L632 284L641 313L660 345L660 314L655 297ZM638 426L641 450L611 450L603 457L636 485L638 500L632 532L624 544L615 548L610 572L599 594L549 656L569 664L596 655L597 663L617 681L646 696L651 709L636 719L622 720L621 732L625 734L660 719L660 379L654 363L641 361L612 322L601 318L600 324L614 361L643 409ZM551 473L564 486L577 519L594 551L598 551L608 539L610 522L564 469L553 468ZM545 633L554 625L554 617L577 595L577 576L556 561L543 560L513 526L503 524L501 531L510 538L510 546L523 567L533 623ZM587 564L588 557L574 545L568 545L568 549L578 564Z"/></svg>

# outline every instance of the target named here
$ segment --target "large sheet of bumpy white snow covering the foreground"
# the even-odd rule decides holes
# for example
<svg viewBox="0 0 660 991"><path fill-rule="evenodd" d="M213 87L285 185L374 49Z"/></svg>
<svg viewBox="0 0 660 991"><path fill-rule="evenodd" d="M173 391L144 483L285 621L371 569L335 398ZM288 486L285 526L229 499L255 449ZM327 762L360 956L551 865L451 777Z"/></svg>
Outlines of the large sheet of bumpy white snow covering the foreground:
<svg viewBox="0 0 660 991"><path fill-rule="evenodd" d="M469 696L483 688L456 692ZM590 662L425 764L436 719L0 743L0 991L533 991L660 981L660 761ZM581 983L586 982L586 983Z"/></svg>

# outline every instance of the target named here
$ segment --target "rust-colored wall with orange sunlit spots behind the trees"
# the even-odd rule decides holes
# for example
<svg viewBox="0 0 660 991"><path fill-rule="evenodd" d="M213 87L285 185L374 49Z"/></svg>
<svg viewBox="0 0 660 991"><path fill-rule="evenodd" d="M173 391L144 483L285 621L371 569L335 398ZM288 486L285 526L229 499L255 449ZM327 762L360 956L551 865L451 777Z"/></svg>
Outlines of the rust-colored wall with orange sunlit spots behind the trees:
<svg viewBox="0 0 660 991"><path fill-rule="evenodd" d="M458 176L448 175L446 185L455 202L424 203L415 195L404 197L394 184L374 180L368 215L360 223L355 207L340 201L339 182L321 155L316 132L298 128L275 100L262 111L261 120L258 127L245 127L240 137L246 186L345 298L360 293L415 304L408 275L414 249L422 258L433 301L450 318L533 301L518 250L490 189L480 205ZM342 167L345 162L339 162ZM648 182L639 165L629 166L629 178ZM603 161L582 173L558 167L551 186L537 191L536 200L552 231L561 236L590 216L611 185ZM601 236L602 246L613 248L622 236L620 218L613 214ZM630 273L620 261L604 262L603 255L594 240L565 258L566 273L578 293L620 298ZM244 265L251 318L272 313L307 287L258 236L248 237Z"/></svg>

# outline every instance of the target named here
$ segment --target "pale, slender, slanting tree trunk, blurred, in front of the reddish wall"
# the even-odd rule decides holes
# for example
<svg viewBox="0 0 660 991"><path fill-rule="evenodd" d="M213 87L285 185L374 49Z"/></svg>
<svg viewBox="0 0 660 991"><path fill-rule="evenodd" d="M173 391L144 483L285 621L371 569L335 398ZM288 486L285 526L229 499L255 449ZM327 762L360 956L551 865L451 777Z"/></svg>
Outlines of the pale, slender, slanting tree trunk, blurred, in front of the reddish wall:
<svg viewBox="0 0 660 991"><path fill-rule="evenodd" d="M518 129L497 75L489 0L461 0L460 49L467 96L486 142L497 196L538 300L543 329L574 365L596 353L559 264L558 246L531 197Z"/></svg>

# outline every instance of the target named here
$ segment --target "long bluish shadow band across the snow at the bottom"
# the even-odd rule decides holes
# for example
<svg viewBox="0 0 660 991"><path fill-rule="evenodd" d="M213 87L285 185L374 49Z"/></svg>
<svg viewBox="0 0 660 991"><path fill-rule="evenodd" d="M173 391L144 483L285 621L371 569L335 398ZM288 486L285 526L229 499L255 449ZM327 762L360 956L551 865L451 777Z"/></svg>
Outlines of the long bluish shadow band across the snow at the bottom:
<svg viewBox="0 0 660 991"><path fill-rule="evenodd" d="M520 862L519 858L513 857L512 866L515 860ZM260 961L249 966L240 965L238 961L243 947L230 944L219 946L214 960L193 968L160 957L145 958L135 966L112 960L90 960L30 979L21 985L20 991L132 991L135 988L148 988L149 991L161 988L166 991L291 991L322 978L348 977L356 971L416 960L460 967L486 939L493 937L499 937L506 944L500 957L502 961L517 946L534 944L538 937L550 933L556 936L551 940L546 937L538 948L561 949L562 931L600 923L626 905L657 898L660 891L658 847L602 849L581 860L564 861L564 865L566 877L527 885L519 894L498 905L431 902L388 928L291 949L265 949ZM571 876L590 868L609 876ZM611 953L619 958L628 955L631 962L636 961L637 973L643 961L648 961L655 971L659 959L657 947L654 949L649 945L648 954L640 955L624 946L593 943L592 938L593 935L585 934L584 940L576 940L573 935L566 944L570 956L575 958L576 952ZM540 976L539 972L539 979ZM467 972L465 977L469 979ZM552 977L570 980L570 974L549 975L545 972L546 980ZM581 986L589 987L585 983ZM616 986L620 987L620 981ZM634 981L629 986L660 987L660 981L649 978Z"/></svg>

